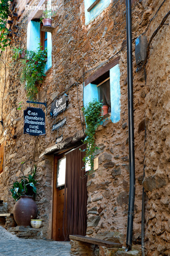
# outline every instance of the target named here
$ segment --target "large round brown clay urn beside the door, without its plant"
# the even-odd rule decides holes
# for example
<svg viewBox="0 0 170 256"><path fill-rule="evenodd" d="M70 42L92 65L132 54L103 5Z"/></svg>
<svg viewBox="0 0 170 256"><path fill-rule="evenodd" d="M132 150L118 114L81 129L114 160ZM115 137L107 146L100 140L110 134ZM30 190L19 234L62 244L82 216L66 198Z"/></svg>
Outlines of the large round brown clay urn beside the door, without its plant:
<svg viewBox="0 0 170 256"><path fill-rule="evenodd" d="M32 196L22 195L13 208L13 216L18 226L27 227L37 216L37 205Z"/></svg>

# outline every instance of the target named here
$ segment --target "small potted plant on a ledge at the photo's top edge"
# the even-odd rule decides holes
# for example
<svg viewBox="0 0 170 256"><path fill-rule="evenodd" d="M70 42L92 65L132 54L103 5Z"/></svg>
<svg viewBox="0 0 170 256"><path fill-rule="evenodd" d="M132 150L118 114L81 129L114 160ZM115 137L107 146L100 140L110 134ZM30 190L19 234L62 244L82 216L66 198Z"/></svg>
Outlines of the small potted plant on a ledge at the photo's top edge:
<svg viewBox="0 0 170 256"><path fill-rule="evenodd" d="M41 21L43 23L43 26L52 26L52 17L55 15L56 13L56 8L52 7L51 4L48 3L47 0L47 6L46 9L44 9L43 14L42 14L42 18Z"/></svg>

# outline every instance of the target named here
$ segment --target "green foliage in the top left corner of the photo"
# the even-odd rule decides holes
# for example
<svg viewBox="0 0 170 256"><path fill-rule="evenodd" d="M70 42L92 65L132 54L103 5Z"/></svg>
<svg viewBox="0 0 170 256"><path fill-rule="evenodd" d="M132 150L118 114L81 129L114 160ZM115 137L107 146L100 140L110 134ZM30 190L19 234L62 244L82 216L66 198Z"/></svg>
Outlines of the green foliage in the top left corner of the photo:
<svg viewBox="0 0 170 256"><path fill-rule="evenodd" d="M11 0L12 2L12 0ZM0 1L0 49L2 51L9 45L8 29L6 28L8 14L9 14L9 0Z"/></svg>

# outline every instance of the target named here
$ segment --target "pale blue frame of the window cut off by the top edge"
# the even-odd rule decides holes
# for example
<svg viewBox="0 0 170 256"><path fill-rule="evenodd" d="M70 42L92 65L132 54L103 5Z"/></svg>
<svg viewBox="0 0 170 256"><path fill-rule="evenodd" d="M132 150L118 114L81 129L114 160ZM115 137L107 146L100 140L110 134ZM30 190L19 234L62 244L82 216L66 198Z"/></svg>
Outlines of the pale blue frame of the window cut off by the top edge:
<svg viewBox="0 0 170 256"><path fill-rule="evenodd" d="M90 12L87 9L94 3L95 0L84 0L84 11L85 11L85 24L91 23L101 12L106 9L112 0L100 0L96 6L91 9Z"/></svg>

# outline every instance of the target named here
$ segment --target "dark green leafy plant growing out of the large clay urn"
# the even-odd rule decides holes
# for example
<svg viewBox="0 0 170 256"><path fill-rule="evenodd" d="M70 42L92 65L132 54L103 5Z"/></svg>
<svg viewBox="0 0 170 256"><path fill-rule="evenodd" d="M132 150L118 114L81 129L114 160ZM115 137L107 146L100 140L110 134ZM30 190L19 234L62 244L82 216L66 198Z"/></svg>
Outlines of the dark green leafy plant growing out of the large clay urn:
<svg viewBox="0 0 170 256"><path fill-rule="evenodd" d="M12 193L12 197L17 201L22 195L30 195L35 196L37 193L36 183L34 180L34 175L36 173L37 166L34 165L34 169L32 175L28 175L28 177L23 176L21 182L14 182L12 189L10 189Z"/></svg>

